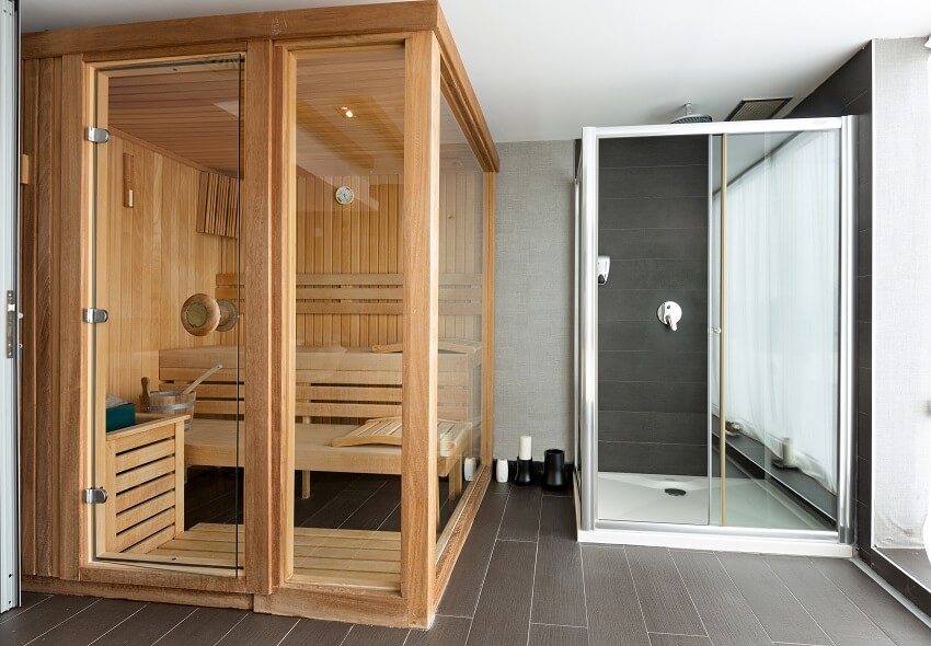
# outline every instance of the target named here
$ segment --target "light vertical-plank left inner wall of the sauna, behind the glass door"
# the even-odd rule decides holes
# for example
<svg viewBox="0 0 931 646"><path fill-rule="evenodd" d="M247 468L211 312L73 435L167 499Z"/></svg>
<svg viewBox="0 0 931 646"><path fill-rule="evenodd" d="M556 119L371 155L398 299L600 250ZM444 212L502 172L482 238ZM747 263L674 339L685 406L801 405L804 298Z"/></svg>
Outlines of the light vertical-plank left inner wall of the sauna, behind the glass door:
<svg viewBox="0 0 931 646"><path fill-rule="evenodd" d="M196 231L198 168L117 136L101 151L110 164L99 214L107 228L99 298L110 311L105 388L138 403L141 378L158 382L160 349L235 343L235 331L192 336L180 311L193 293L212 296L217 274L235 270L237 241ZM133 208L123 206L124 153L135 158Z"/></svg>

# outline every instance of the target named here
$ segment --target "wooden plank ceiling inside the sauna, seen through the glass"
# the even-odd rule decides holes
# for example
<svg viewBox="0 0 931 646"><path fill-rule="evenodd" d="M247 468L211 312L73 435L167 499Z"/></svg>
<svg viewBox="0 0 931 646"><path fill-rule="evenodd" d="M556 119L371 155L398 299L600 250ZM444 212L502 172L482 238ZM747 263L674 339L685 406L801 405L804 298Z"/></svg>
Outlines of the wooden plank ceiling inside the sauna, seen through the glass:
<svg viewBox="0 0 931 646"><path fill-rule="evenodd" d="M110 128L235 176L244 66L235 61L110 73ZM296 157L317 176L401 173L404 160L404 54L373 49L314 54L297 66ZM352 117L346 117L346 108ZM441 111L441 164L470 169L474 158L452 113Z"/></svg>

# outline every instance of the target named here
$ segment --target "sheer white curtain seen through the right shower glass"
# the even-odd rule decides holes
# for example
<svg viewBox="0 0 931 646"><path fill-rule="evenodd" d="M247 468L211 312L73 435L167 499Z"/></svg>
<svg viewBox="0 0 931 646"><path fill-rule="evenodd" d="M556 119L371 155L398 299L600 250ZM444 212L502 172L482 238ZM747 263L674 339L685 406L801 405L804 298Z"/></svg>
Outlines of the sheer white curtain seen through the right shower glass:
<svg viewBox="0 0 931 646"><path fill-rule="evenodd" d="M839 177L837 131L790 139L728 184L725 258L726 418L777 455L788 439L798 469L830 492L837 491ZM713 212L717 241L719 194ZM716 318L720 256L713 258ZM717 366L716 344L713 357ZM719 412L717 384L712 388Z"/></svg>

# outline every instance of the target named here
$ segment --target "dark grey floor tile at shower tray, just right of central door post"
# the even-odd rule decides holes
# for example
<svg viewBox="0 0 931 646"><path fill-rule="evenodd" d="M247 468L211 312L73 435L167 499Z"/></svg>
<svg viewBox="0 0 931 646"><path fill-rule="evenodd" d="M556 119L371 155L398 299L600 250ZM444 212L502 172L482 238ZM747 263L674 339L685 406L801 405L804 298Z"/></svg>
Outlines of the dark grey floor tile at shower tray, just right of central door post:
<svg viewBox="0 0 931 646"><path fill-rule="evenodd" d="M721 553L717 558L770 639L792 644L831 644L761 556Z"/></svg>

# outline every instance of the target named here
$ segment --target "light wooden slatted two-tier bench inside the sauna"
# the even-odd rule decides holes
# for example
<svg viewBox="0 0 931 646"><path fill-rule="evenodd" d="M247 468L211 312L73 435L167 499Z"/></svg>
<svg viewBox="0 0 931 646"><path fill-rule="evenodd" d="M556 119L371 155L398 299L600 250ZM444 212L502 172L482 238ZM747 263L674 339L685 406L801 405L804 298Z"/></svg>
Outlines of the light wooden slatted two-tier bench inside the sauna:
<svg viewBox="0 0 931 646"><path fill-rule="evenodd" d="M473 430L481 424L479 392L482 345L445 339L438 357L437 417L456 424L438 457L438 471L449 477L450 494L461 492L462 458L471 454ZM295 470L304 472L303 497L310 471L401 473L401 449L381 445L333 447L366 420L401 415L403 356L370 348L298 346L295 353ZM243 437L237 418L243 414L249 384L237 366L243 354L235 346L200 346L159 353L161 389L183 389L208 368L222 365L197 387L194 420L185 434L188 466L242 466ZM243 423L249 428L249 419ZM240 448L237 451L237 447ZM239 463L237 462L239 453Z"/></svg>

